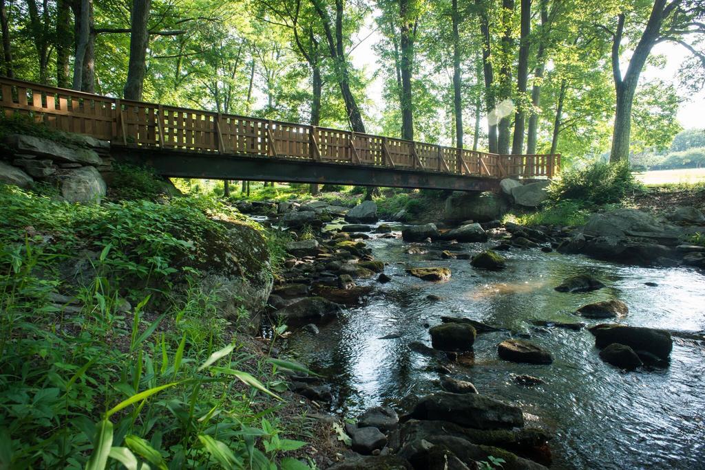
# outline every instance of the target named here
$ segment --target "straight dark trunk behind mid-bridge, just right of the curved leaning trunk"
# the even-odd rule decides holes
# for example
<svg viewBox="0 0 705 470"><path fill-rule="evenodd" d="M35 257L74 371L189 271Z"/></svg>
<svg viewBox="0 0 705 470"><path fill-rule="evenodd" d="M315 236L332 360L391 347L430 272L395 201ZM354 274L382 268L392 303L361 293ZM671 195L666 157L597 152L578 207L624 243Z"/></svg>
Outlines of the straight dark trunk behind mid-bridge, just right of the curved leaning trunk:
<svg viewBox="0 0 705 470"><path fill-rule="evenodd" d="M401 61L401 138L414 140L414 102L411 79L414 67L414 25L409 18L409 0L399 0Z"/></svg>

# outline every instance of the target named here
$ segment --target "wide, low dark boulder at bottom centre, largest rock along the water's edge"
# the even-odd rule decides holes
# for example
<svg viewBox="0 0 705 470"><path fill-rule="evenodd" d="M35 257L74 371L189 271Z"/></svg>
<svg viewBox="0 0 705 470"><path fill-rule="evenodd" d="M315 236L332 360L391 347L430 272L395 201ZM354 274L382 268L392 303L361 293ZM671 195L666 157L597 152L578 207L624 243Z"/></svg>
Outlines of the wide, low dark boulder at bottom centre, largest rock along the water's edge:
<svg viewBox="0 0 705 470"><path fill-rule="evenodd" d="M519 407L474 393L439 392L426 395L416 403L411 417L450 421L475 429L524 426L524 416Z"/></svg>

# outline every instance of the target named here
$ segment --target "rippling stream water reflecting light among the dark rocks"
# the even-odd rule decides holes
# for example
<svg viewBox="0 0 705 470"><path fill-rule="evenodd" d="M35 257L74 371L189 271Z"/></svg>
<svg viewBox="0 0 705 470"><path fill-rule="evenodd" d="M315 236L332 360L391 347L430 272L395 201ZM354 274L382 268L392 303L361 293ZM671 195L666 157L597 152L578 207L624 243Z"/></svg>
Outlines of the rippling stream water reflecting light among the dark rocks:
<svg viewBox="0 0 705 470"><path fill-rule="evenodd" d="M408 409L414 397L439 390L434 360L412 352L408 343L430 345L427 326L444 315L467 317L530 334L550 350L551 365L499 360L497 344L509 331L479 334L474 360L451 364L453 375L472 381L480 393L519 405L527 424L555 436L550 446L556 469L705 469L705 346L674 338L666 369L623 373L602 362L586 329L537 328L532 320L586 322L572 315L585 303L618 298L630 307L620 322L683 333L705 331L705 277L685 268L613 265L580 255L511 250L501 272L475 269L467 260L439 260L443 249L477 253L489 243L432 243L429 253L404 253L399 239L372 239L378 260L388 262L388 284L364 304L312 336L293 334L288 348L302 362L329 377L338 393L333 410L356 417L372 405ZM432 283L405 274L406 267L449 267L449 281ZM606 288L560 293L553 287L574 274L592 274ZM645 282L658 286L646 286ZM440 301L427 295L441 296ZM398 336L381 339L384 336ZM513 380L529 374L545 384L526 388ZM533 421L533 422L532 422Z"/></svg>

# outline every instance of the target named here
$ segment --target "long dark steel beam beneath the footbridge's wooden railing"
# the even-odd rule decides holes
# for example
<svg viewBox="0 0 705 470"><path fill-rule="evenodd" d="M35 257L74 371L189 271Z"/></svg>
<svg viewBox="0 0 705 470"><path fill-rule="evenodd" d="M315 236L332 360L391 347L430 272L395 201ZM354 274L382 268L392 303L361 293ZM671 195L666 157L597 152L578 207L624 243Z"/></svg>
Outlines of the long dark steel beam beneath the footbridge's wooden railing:
<svg viewBox="0 0 705 470"><path fill-rule="evenodd" d="M158 174L165 177L353 184L454 191L499 189L499 179L496 178L350 163L116 145L111 147L111 155L119 162L153 167Z"/></svg>

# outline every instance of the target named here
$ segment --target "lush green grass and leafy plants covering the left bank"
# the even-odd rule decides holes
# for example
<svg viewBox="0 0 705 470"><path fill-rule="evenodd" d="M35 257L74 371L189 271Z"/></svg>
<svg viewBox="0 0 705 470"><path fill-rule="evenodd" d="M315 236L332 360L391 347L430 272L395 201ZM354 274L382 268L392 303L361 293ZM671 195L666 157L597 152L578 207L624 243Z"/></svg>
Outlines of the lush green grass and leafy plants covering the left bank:
<svg viewBox="0 0 705 470"><path fill-rule="evenodd" d="M292 439L278 420L276 371L218 317L197 272L164 291L129 289L152 277L163 287L199 237L221 233L188 198L70 205L0 186L0 431L8 468L207 468L293 465ZM178 233L173 229L183 229ZM203 240L205 240L205 238ZM90 278L78 287L51 275L90 248ZM156 258L159 258L157 260ZM78 289L78 290L77 290ZM56 300L56 293L73 300ZM153 292L153 291L152 291ZM294 468L294 467L290 467Z"/></svg>

